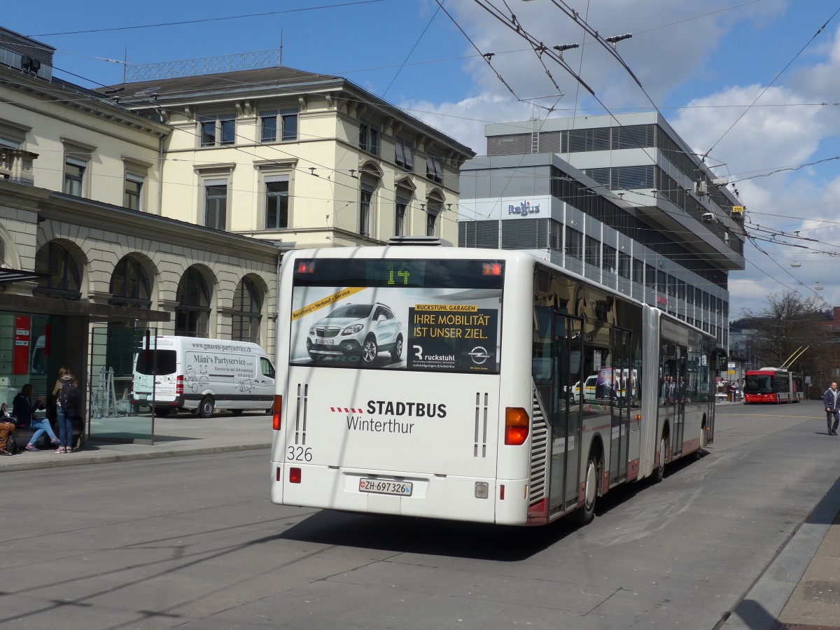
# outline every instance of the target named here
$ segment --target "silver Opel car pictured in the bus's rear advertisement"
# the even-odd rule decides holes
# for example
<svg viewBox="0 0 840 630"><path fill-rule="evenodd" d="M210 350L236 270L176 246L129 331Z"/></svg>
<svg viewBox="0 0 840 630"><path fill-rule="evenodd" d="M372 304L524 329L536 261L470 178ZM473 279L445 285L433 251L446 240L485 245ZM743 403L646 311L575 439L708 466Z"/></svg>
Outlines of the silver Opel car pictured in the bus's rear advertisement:
<svg viewBox="0 0 840 630"><path fill-rule="evenodd" d="M391 359L402 356L402 323L391 307L374 304L343 304L309 328L309 357L318 361L329 356L358 356L370 365L379 353L390 352Z"/></svg>

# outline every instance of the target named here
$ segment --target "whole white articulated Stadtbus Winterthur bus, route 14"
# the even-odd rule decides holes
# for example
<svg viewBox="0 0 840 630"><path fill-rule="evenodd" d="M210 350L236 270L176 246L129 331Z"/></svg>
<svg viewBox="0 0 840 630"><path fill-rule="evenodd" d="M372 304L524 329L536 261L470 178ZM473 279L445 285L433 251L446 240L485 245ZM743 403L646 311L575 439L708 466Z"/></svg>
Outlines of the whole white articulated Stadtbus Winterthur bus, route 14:
<svg viewBox="0 0 840 630"><path fill-rule="evenodd" d="M588 522L714 436L714 338L522 252L295 251L278 302L278 504Z"/></svg>

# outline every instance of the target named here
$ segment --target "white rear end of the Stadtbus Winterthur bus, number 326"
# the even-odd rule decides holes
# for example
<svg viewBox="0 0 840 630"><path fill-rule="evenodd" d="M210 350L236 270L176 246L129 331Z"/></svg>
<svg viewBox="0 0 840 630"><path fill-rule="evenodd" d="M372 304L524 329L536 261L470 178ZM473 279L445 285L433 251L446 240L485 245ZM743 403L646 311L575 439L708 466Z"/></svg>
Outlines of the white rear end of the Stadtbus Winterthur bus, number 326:
<svg viewBox="0 0 840 630"><path fill-rule="evenodd" d="M501 391L500 377L511 255L475 260L475 251L286 256L271 501L525 522L529 355L519 398ZM527 351L531 323L518 328L511 341L522 336ZM506 448L519 456L501 457Z"/></svg>

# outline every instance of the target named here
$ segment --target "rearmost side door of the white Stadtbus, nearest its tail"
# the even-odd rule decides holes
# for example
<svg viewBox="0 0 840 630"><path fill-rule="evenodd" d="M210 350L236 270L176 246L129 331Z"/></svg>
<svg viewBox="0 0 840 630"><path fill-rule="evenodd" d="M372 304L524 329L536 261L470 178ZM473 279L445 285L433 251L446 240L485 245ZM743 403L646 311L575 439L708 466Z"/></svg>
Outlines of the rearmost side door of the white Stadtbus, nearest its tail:
<svg viewBox="0 0 840 630"><path fill-rule="evenodd" d="M580 399L574 385L581 380L580 320L554 312L551 330L551 370L548 387L551 409L551 473L549 513L577 504L577 471L580 468ZM543 394L543 404L548 400ZM574 488L570 493L564 489Z"/></svg>

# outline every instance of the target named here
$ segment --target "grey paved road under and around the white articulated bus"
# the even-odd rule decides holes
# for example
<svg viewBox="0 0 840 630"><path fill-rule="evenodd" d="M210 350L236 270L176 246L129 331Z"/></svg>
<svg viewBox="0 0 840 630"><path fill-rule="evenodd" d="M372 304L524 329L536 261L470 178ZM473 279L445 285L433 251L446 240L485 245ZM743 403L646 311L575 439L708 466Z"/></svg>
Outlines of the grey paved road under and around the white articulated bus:
<svg viewBox="0 0 840 630"><path fill-rule="evenodd" d="M273 506L264 449L6 472L0 626L705 630L837 480L809 406L721 407L582 529Z"/></svg>

